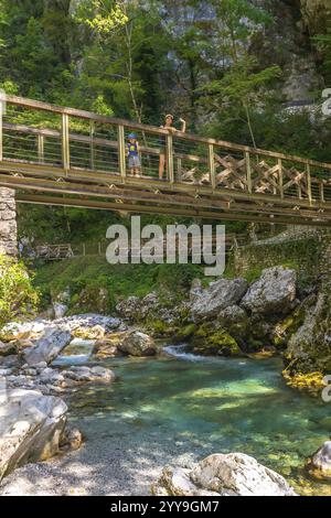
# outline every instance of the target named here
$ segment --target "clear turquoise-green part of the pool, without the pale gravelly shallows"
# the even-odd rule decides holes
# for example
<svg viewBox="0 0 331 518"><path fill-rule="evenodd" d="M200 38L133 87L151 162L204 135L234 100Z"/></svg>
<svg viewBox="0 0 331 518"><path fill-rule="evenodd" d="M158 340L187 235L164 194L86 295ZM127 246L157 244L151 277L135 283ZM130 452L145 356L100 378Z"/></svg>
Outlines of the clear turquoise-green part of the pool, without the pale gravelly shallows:
<svg viewBox="0 0 331 518"><path fill-rule="evenodd" d="M300 494L331 495L331 484L310 479L303 470L305 460L330 435L331 403L288 388L280 359L182 355L103 365L114 369L117 381L86 386L71 401L73 419L84 416L89 427L95 419L95 433L100 433L102 418L102 429L167 436L194 450L197 458L247 453L281 473Z"/></svg>

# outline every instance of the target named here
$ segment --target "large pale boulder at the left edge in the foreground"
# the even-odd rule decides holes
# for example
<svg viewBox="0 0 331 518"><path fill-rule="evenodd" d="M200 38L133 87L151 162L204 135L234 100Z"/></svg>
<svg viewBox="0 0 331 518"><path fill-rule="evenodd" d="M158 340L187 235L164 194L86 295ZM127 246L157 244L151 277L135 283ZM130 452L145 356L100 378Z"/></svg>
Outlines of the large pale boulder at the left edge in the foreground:
<svg viewBox="0 0 331 518"><path fill-rule="evenodd" d="M58 452L67 407L36 390L8 390L0 404L0 479L26 462Z"/></svg>

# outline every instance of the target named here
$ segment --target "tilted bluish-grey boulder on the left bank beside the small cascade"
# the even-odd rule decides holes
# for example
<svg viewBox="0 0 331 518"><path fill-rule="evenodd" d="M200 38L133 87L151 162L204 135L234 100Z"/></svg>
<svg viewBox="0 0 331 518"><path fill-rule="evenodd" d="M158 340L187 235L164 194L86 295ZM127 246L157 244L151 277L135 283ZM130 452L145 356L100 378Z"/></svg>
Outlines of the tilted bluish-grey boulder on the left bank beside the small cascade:
<svg viewBox="0 0 331 518"><path fill-rule="evenodd" d="M22 355L29 365L41 361L50 364L71 341L72 334L67 328L50 327L45 330L43 337L34 341L34 347L24 349Z"/></svg>

